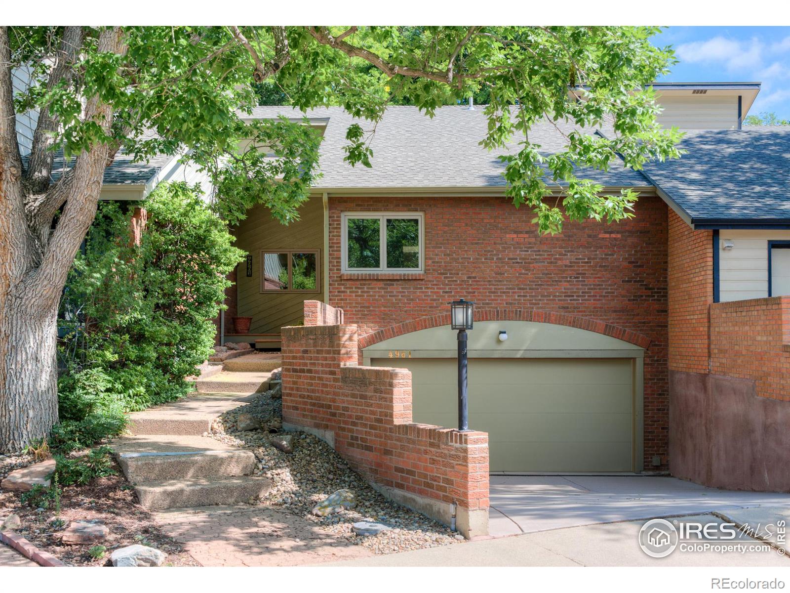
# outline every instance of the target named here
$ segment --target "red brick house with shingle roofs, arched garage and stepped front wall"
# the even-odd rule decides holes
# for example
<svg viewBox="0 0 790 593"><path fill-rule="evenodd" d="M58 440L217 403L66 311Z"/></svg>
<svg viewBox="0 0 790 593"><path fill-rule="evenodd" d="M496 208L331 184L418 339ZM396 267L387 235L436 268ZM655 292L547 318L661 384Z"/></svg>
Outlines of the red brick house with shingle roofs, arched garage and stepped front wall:
<svg viewBox="0 0 790 593"><path fill-rule="evenodd" d="M581 172L638 191L636 217L556 236L504 197L481 108L389 108L370 169L343 161L348 114L310 111L322 179L292 225L256 206L234 229L249 255L218 340L282 348L285 421L469 532L489 471L790 490L790 130L741 127L758 83L656 91L688 154ZM278 115L302 116L252 117ZM551 123L530 139L564 142ZM476 303L468 436L450 430L459 297Z"/></svg>

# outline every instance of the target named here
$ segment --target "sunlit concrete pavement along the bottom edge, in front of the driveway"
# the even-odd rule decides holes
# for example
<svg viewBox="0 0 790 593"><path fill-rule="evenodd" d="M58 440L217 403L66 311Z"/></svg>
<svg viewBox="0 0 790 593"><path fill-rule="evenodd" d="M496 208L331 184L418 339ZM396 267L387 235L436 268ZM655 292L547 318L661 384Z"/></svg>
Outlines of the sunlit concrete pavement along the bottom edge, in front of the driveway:
<svg viewBox="0 0 790 593"><path fill-rule="evenodd" d="M684 520L717 522L713 516L687 516ZM683 552L651 558L641 551L638 533L642 521L570 527L554 531L493 538L459 546L441 546L389 556L335 562L335 566L777 566L790 568L790 559L741 534L739 543L764 548L746 553L713 550Z"/></svg>

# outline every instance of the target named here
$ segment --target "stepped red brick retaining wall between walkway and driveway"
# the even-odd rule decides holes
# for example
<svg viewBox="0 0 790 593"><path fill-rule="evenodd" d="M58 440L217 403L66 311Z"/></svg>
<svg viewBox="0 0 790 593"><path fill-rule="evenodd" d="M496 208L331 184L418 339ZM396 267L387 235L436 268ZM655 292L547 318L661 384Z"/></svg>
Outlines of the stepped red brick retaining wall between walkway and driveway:
<svg viewBox="0 0 790 593"><path fill-rule="evenodd" d="M282 337L285 422L332 432L337 452L375 484L487 513L485 432L412 424L411 372L356 366L354 325L284 327Z"/></svg>

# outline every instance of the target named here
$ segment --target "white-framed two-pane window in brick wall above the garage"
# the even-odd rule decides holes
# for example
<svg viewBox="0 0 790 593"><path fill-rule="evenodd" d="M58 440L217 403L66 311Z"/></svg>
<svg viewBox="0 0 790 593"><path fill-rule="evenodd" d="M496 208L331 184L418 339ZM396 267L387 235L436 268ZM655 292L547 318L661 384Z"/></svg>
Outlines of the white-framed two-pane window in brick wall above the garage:
<svg viewBox="0 0 790 593"><path fill-rule="evenodd" d="M420 272L423 270L421 213L345 213L343 270Z"/></svg>

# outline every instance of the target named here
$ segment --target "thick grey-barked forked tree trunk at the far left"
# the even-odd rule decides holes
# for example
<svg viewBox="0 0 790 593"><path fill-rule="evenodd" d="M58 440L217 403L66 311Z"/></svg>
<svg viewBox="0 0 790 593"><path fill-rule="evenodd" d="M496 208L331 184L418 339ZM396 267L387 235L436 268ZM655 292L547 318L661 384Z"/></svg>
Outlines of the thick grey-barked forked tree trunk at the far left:
<svg viewBox="0 0 790 593"><path fill-rule="evenodd" d="M98 49L122 51L120 29L103 29ZM104 168L118 148L93 145L43 198L31 199L36 188L25 195L10 63L8 28L0 27L0 453L20 451L58 421L58 304L74 254L96 216ZM89 98L85 119L107 133L112 108ZM47 134L36 134L32 153L47 142ZM40 170L48 166L42 159Z"/></svg>

